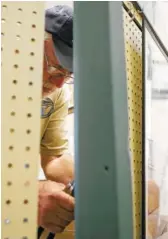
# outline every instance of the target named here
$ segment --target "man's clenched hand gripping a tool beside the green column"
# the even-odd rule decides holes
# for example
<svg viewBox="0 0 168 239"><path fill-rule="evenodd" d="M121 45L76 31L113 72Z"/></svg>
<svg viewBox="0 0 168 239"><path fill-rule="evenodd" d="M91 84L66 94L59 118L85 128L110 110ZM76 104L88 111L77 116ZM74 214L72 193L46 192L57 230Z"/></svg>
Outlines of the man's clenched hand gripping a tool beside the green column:
<svg viewBox="0 0 168 239"><path fill-rule="evenodd" d="M62 232L74 219L75 200L63 192L65 185L39 181L38 224L50 232Z"/></svg>

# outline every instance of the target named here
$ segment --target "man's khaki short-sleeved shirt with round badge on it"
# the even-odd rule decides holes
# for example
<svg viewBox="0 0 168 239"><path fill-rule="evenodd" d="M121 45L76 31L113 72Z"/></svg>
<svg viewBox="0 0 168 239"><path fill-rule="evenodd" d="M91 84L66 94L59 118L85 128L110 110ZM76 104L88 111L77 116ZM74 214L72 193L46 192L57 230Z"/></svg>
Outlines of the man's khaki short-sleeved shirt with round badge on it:
<svg viewBox="0 0 168 239"><path fill-rule="evenodd" d="M68 97L64 88L42 99L40 153L59 156L68 151Z"/></svg>

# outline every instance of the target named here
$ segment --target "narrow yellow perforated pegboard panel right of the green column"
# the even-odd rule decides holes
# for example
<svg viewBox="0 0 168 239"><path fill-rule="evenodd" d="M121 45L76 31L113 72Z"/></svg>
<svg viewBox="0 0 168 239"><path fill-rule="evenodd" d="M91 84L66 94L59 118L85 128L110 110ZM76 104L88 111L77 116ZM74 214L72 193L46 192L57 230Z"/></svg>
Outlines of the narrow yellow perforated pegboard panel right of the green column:
<svg viewBox="0 0 168 239"><path fill-rule="evenodd" d="M127 3L134 16L137 13ZM141 238L142 185L142 32L124 13L124 35L128 88L129 147L132 162L134 239ZM138 15L138 21L140 17Z"/></svg>

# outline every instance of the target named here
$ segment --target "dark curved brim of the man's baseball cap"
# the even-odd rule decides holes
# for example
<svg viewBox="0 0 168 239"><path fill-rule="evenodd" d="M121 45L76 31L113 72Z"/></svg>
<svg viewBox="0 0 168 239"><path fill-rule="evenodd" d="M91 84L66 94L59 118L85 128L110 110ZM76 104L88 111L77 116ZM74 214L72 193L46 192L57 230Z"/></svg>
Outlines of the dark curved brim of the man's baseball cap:
<svg viewBox="0 0 168 239"><path fill-rule="evenodd" d="M73 48L61 40L53 39L55 54L61 66L73 72Z"/></svg>

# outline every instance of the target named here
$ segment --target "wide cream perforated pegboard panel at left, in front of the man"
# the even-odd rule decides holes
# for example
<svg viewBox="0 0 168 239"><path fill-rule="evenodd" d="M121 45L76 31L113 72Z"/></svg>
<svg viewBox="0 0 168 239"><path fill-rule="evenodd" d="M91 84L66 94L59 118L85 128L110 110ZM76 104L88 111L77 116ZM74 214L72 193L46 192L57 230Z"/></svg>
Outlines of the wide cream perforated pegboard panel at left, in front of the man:
<svg viewBox="0 0 168 239"><path fill-rule="evenodd" d="M35 239L43 2L2 2L2 239Z"/></svg>

